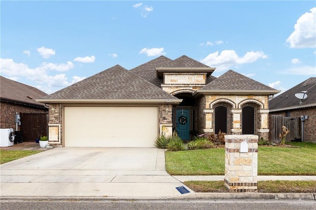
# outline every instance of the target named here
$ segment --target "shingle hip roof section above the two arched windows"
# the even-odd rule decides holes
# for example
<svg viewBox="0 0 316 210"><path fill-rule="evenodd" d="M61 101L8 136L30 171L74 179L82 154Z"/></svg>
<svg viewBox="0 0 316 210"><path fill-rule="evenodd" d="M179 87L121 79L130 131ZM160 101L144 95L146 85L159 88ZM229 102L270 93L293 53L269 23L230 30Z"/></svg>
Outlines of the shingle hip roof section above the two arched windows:
<svg viewBox="0 0 316 210"><path fill-rule="evenodd" d="M276 91L274 88L264 85L233 70L229 70L217 77L206 86L201 88L201 90Z"/></svg>

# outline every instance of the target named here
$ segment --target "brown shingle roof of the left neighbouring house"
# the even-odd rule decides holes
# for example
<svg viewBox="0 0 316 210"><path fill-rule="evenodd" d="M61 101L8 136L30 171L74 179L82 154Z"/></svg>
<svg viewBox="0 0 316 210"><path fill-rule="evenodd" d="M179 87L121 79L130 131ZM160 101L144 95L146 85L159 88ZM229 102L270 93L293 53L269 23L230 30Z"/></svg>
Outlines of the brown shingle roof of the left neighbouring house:
<svg viewBox="0 0 316 210"><path fill-rule="evenodd" d="M1 100L45 107L44 104L35 99L40 99L46 95L35 87L0 76Z"/></svg>

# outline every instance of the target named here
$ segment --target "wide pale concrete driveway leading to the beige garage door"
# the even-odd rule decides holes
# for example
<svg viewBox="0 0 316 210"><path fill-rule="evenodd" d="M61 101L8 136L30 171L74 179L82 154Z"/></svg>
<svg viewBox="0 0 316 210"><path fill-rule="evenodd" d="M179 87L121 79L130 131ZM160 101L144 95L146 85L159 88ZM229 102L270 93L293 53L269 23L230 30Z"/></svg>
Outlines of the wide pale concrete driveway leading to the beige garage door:
<svg viewBox="0 0 316 210"><path fill-rule="evenodd" d="M0 170L1 197L165 198L181 196L176 187L184 186L165 171L157 148L57 147Z"/></svg>

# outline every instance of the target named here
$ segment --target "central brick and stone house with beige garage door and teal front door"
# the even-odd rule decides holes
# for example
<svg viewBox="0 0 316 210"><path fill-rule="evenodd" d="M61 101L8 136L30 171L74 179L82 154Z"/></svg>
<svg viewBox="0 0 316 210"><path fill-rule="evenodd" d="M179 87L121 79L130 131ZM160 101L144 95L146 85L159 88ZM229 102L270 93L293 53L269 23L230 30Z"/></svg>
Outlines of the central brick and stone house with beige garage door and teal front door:
<svg viewBox="0 0 316 210"><path fill-rule="evenodd" d="M63 146L153 146L176 130L255 134L265 139L268 97L279 91L187 56L160 56L134 69L117 65L38 100L49 104L49 141Z"/></svg>

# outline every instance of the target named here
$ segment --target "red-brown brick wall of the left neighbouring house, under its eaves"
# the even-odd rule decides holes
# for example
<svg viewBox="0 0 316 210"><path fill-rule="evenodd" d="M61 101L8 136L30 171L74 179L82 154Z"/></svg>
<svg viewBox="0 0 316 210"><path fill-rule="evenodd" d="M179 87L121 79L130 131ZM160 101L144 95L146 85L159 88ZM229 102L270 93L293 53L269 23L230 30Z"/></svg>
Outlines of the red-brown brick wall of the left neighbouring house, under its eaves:
<svg viewBox="0 0 316 210"><path fill-rule="evenodd" d="M13 128L15 131L15 115L20 113L48 113L47 108L39 106L23 105L1 101L0 104L0 128ZM20 130L20 126L18 126Z"/></svg>

